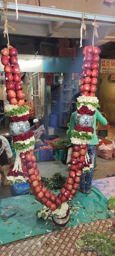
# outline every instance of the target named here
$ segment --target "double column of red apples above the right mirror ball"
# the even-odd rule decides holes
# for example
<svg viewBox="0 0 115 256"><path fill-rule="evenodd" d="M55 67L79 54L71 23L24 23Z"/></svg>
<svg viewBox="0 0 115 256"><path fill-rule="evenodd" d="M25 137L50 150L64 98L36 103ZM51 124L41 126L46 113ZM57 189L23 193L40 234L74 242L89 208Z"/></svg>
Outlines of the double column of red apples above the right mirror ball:
<svg viewBox="0 0 115 256"><path fill-rule="evenodd" d="M97 76L99 69L99 53L100 49L98 47L86 46L83 49L84 54L84 64L82 65L81 73L81 95L85 96L95 96Z"/></svg>

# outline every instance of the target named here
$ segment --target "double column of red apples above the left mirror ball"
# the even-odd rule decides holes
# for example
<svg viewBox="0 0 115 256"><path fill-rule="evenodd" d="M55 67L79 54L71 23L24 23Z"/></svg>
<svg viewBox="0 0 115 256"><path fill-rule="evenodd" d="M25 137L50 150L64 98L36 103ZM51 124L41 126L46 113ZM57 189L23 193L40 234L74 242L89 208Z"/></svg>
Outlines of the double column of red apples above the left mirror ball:
<svg viewBox="0 0 115 256"><path fill-rule="evenodd" d="M14 47L3 48L1 50L1 63L4 65L7 100L11 105L24 106L23 98L25 95L22 91L17 54L18 51Z"/></svg>

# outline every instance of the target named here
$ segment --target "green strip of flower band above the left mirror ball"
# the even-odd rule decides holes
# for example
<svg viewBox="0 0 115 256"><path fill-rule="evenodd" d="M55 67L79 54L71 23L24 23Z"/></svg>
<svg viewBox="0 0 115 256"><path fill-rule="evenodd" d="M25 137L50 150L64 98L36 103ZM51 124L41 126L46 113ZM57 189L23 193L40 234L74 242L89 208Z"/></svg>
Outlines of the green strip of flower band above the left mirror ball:
<svg viewBox="0 0 115 256"><path fill-rule="evenodd" d="M6 116L18 116L19 114L24 114L27 111L30 110L29 106L23 106L23 107L19 107L18 109L12 109L11 111L5 113Z"/></svg>

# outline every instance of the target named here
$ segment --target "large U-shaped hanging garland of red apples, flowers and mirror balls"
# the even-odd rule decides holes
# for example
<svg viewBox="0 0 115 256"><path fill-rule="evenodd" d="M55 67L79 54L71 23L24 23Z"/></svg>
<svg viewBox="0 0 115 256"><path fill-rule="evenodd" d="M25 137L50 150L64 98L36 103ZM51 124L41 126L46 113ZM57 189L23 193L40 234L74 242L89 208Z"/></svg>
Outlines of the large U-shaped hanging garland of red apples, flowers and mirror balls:
<svg viewBox="0 0 115 256"><path fill-rule="evenodd" d="M10 105L6 106L5 112L13 121L10 124L10 130L13 135L13 146L17 149L16 161L10 169L7 179L10 184L28 180L36 200L53 211L63 205L62 203L73 199L77 193L82 172L86 173L93 167L92 160L87 154L87 144L93 138L93 115L98 107L95 92L99 53L100 49L98 47L89 46L83 49L84 64L81 74L81 96L77 100L77 109L80 114L77 115L75 130L72 131L71 137L74 151L70 162L69 177L57 196L46 189L39 176L33 150L35 141L30 133L29 122L23 120L18 122L17 119L13 121L16 116L22 117L29 114L28 106L25 106L23 100L17 50L12 47L10 49L4 48L1 51L1 62L5 65L4 71L6 72L7 99L10 102Z"/></svg>

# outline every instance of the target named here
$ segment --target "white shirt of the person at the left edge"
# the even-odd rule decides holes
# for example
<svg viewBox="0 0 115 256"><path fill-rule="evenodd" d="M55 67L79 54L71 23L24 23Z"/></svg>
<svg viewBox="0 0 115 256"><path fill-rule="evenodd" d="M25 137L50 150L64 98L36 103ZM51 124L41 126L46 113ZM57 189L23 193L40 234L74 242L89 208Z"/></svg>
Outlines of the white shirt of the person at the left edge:
<svg viewBox="0 0 115 256"><path fill-rule="evenodd" d="M1 135L0 135L0 139L2 140L2 146L0 148L0 155L2 154L2 152L5 149L7 158L11 158L12 157L12 150L10 148L8 140L5 137L1 136Z"/></svg>

